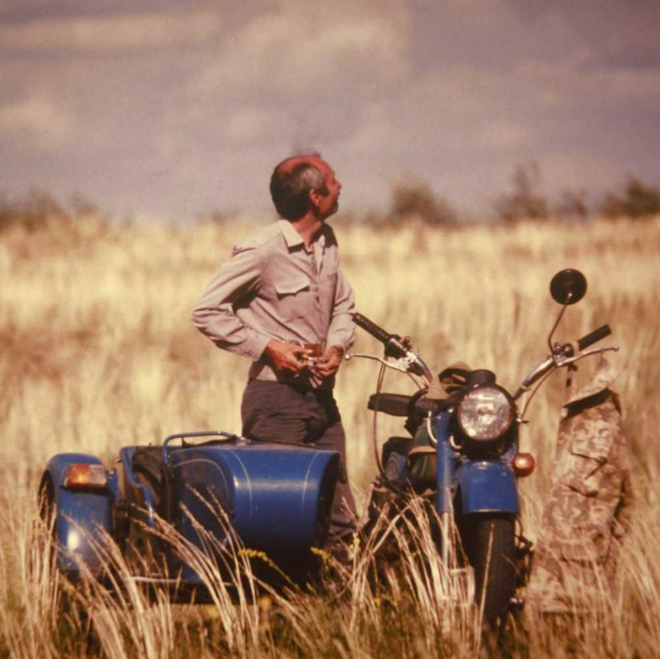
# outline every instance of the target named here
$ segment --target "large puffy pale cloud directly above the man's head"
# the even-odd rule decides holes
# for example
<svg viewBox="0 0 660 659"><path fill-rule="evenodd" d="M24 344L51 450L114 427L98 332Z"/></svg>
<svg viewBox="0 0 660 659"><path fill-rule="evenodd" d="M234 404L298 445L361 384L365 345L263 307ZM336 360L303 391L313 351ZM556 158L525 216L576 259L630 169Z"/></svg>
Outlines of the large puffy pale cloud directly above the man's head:
<svg viewBox="0 0 660 659"><path fill-rule="evenodd" d="M252 12L210 44L181 85L160 122L159 148L179 158L236 144L279 156L327 149L355 130L365 99L405 81L405 7L339 1L320 10L287 0Z"/></svg>

